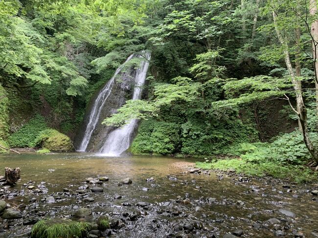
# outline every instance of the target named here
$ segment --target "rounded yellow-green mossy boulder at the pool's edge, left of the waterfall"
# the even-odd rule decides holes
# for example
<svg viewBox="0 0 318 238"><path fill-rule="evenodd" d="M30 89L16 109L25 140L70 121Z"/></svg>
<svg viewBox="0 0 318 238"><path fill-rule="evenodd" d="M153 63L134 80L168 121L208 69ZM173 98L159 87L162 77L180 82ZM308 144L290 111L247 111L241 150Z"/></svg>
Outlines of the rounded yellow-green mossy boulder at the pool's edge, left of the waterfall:
<svg viewBox="0 0 318 238"><path fill-rule="evenodd" d="M73 151L74 147L70 138L57 130L43 130L37 138L37 144L42 148L55 152Z"/></svg>

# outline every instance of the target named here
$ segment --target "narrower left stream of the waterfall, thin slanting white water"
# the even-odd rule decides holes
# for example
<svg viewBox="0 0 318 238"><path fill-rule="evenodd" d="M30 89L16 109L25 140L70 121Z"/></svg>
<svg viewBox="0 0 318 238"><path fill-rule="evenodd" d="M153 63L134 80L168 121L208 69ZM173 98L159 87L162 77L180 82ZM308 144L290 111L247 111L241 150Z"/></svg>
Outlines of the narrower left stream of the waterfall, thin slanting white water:
<svg viewBox="0 0 318 238"><path fill-rule="evenodd" d="M78 151L86 151L87 146L89 145L90 140L91 140L91 135L92 135L93 131L95 130L95 127L99 121L100 112L101 112L108 96L110 95L113 86L114 86L115 77L119 74L119 72L121 71L123 66L133 58L133 56L134 56L133 54L131 56L129 56L128 59L125 61L125 63L123 65L120 65L117 68L114 76L105 85L105 87L103 87L103 89L99 92L99 94L98 94L97 98L95 99L93 106L91 108L89 123L86 126L83 140L79 146Z"/></svg>

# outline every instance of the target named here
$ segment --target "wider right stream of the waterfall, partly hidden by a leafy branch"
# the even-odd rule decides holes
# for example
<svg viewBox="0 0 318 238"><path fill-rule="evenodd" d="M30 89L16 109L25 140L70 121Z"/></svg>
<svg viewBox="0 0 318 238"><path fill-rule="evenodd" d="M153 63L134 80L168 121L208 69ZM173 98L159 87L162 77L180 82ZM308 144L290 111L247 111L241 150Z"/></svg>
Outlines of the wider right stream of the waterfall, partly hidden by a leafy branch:
<svg viewBox="0 0 318 238"><path fill-rule="evenodd" d="M143 56L139 55L139 58ZM146 60L143 60L136 71L135 87L133 100L141 98L142 86L145 84L146 74L149 66L150 53L145 53ZM113 130L109 135L104 146L99 151L107 156L119 156L126 151L131 143L132 134L137 126L138 121L136 119L131 120L123 127Z"/></svg>

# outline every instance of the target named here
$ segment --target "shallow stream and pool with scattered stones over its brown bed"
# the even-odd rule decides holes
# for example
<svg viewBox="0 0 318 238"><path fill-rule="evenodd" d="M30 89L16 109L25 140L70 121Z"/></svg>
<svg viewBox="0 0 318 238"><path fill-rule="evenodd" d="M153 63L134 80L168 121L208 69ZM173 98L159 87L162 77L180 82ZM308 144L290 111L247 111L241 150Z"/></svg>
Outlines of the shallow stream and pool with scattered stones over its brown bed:
<svg viewBox="0 0 318 238"><path fill-rule="evenodd" d="M93 223L86 237L318 237L318 184L202 171L165 157L0 155L22 179L0 190L0 237L43 218ZM98 230L100 216L110 229Z"/></svg>

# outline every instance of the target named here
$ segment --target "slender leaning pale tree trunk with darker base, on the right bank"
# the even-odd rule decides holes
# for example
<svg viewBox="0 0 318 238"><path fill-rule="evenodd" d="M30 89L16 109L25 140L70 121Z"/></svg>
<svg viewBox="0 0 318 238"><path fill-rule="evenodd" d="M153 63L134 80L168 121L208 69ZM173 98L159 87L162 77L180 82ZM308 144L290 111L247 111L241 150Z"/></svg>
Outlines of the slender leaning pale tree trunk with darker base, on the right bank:
<svg viewBox="0 0 318 238"><path fill-rule="evenodd" d="M285 63L286 63L287 69L288 69L289 76L291 77L291 80L292 80L292 84L293 84L294 91L296 94L296 104L297 104L297 108L299 108L299 112L296 111L294 108L293 108L293 110L297 113L297 115L300 119L303 140L305 142L305 145L306 145L308 151L310 152L311 156L313 157L313 159L318 163L318 150L313 146L313 143L309 137L308 125L307 125L307 109L305 108L305 104L304 104L304 101L302 98L301 87L299 87L299 83L297 82L295 72L294 72L294 69L293 69L293 66L292 66L292 63L290 60L287 41L286 41L286 39L284 39L281 32L279 31L276 19L277 19L277 15L273 11L273 21L274 21L275 31L276 31L277 38L278 38L279 42L284 47Z"/></svg>

